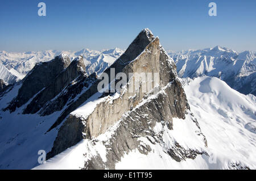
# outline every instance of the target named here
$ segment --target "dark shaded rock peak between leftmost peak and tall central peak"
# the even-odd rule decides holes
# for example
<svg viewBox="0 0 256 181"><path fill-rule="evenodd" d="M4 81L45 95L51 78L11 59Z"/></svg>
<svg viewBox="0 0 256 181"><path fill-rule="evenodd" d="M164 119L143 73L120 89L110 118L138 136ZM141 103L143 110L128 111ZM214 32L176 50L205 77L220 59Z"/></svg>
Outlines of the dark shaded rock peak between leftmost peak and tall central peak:
<svg viewBox="0 0 256 181"><path fill-rule="evenodd" d="M42 91L39 92L35 96L35 98L31 101L30 104L26 107L23 113L36 113L42 107L46 108L46 103L51 101L58 95L63 89L74 79L79 77L79 75L85 74L85 65L82 56L77 57L75 60L71 62L71 64L65 69L61 71L59 75ZM86 77L86 75L84 75ZM88 77L88 76L87 76ZM59 107L64 106L63 104L59 104ZM59 108L59 109L60 109ZM57 109L57 110L59 110ZM56 111L55 109L52 112ZM49 112L49 113L52 113ZM46 113L46 112L45 112Z"/></svg>

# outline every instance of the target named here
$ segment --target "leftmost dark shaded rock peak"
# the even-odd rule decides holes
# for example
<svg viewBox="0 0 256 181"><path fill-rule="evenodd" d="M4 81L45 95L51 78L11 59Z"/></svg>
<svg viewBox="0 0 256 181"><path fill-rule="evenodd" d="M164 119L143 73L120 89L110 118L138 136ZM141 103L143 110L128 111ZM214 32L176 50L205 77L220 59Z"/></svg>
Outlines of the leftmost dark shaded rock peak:
<svg viewBox="0 0 256 181"><path fill-rule="evenodd" d="M11 101L5 110L13 112L17 107L27 103L36 93L48 86L69 64L69 57L64 54L56 56L51 61L36 64L23 79L16 98Z"/></svg>

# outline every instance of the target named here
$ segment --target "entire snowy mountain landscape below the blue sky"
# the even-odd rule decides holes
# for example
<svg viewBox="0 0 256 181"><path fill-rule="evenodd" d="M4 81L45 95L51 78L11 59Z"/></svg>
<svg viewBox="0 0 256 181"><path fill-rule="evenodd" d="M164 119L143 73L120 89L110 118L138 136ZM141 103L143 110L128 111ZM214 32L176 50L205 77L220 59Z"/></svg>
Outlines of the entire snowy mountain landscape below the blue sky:
<svg viewBox="0 0 256 181"><path fill-rule="evenodd" d="M0 169L256 169L255 63L219 46L166 51L148 29L125 51L2 51ZM130 92L129 77L102 93L110 69L157 72L158 85Z"/></svg>

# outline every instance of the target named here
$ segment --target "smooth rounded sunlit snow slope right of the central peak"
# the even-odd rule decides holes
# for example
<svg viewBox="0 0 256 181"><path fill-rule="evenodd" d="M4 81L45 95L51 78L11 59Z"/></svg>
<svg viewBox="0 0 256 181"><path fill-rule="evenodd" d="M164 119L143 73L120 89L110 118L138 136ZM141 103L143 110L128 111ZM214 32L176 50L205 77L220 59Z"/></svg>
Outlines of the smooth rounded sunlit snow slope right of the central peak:
<svg viewBox="0 0 256 181"><path fill-rule="evenodd" d="M207 152L216 160L209 169L256 169L256 97L207 76L193 80L185 92L207 138Z"/></svg>

